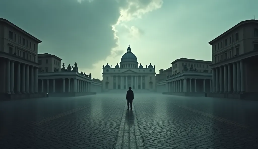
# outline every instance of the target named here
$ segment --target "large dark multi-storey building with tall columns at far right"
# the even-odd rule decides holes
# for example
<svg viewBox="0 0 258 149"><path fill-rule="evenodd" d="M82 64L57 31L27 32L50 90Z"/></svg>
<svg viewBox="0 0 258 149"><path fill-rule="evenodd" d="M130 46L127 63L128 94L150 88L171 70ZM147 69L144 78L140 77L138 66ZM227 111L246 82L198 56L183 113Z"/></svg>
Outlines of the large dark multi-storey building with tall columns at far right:
<svg viewBox="0 0 258 149"><path fill-rule="evenodd" d="M213 93L208 96L257 98L258 20L242 21L209 44Z"/></svg>

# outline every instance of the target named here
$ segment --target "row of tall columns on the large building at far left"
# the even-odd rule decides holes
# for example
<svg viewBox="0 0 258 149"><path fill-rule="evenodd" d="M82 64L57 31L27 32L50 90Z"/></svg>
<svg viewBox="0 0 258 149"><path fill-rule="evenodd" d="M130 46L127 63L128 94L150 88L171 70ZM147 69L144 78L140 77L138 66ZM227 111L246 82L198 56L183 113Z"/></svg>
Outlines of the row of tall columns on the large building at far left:
<svg viewBox="0 0 258 149"><path fill-rule="evenodd" d="M14 63L17 67L14 68ZM38 93L38 67L21 63L19 61L7 60L6 64L6 93L8 94L34 94ZM15 70L16 69L16 70ZM14 71L15 70L15 71ZM15 72L15 73L14 73ZM16 81L14 82L14 77ZM15 86L15 90L14 90Z"/></svg>

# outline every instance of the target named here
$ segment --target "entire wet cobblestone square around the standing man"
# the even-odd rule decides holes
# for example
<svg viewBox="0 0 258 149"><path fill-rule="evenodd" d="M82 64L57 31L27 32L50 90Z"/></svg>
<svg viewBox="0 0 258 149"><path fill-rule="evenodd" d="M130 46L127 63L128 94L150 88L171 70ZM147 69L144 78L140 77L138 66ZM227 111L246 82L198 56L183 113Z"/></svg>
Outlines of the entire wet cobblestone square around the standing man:
<svg viewBox="0 0 258 149"><path fill-rule="evenodd" d="M255 101L162 94L0 102L0 148L258 148Z"/></svg>

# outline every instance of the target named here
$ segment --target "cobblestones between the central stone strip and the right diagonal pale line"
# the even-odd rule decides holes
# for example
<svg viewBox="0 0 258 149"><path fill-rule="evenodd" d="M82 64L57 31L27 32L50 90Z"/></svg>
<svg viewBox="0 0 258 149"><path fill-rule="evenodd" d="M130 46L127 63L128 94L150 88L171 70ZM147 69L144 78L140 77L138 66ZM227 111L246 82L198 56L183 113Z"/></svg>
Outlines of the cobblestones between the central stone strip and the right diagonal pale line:
<svg viewBox="0 0 258 149"><path fill-rule="evenodd" d="M134 101L147 149L258 148L258 132L222 122L173 104L173 99Z"/></svg>

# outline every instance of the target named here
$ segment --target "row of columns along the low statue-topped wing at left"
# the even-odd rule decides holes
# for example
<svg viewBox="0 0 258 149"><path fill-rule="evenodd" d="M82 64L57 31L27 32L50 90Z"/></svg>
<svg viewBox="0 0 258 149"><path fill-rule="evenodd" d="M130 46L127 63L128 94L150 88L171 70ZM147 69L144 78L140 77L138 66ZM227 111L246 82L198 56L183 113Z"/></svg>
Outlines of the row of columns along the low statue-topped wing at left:
<svg viewBox="0 0 258 149"><path fill-rule="evenodd" d="M66 85L66 80L68 79L68 85ZM86 92L91 92L92 90L92 86L91 86L91 82L90 81L85 81L85 80L81 80L81 79L77 79L77 78L63 78L63 83L62 83L62 87L63 87L63 93L66 93L66 86L68 87L68 93L71 92L71 79L73 79L73 93L86 93ZM55 89L56 89L56 83L55 80L56 79L41 79L41 92L44 92L44 80L47 80L47 90L46 92L49 93L49 80L53 80L53 87L52 87L52 93L55 93Z"/></svg>

